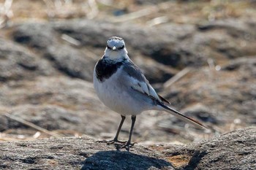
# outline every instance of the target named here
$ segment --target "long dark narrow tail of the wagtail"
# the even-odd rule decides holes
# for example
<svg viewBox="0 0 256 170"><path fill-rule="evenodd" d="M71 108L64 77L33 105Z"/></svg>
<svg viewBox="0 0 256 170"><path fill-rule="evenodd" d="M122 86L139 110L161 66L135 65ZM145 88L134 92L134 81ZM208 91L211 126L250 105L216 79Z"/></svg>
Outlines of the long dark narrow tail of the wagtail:
<svg viewBox="0 0 256 170"><path fill-rule="evenodd" d="M163 107L164 109L167 110L167 112L169 112L172 115L175 115L176 117L178 117L181 120L184 120L187 123L190 123L192 125L197 126L198 128L207 128L205 125L203 125L202 123L198 122L197 120L194 120L190 117L187 117L185 115L182 115L180 112L178 112L176 109L173 109L171 107L167 107L165 104L161 104L159 103L159 106Z"/></svg>

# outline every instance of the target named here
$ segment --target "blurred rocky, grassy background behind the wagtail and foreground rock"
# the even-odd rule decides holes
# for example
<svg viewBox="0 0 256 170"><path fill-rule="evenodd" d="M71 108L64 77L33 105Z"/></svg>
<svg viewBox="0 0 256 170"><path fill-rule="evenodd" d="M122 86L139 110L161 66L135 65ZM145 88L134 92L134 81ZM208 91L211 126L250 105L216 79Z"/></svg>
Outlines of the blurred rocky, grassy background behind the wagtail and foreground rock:
<svg viewBox="0 0 256 170"><path fill-rule="evenodd" d="M121 117L92 85L110 36L172 107L211 127L148 111L134 141L184 144L256 124L254 0L0 0L0 141L113 138Z"/></svg>

